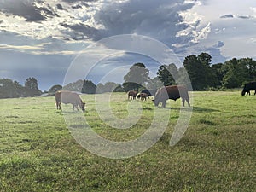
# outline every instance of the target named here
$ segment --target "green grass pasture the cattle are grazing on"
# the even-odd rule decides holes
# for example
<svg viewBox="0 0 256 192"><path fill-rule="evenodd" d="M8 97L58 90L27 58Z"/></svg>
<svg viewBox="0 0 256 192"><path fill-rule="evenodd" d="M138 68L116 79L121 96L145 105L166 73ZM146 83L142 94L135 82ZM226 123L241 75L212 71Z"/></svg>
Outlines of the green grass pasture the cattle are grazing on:
<svg viewBox="0 0 256 192"><path fill-rule="evenodd" d="M90 127L113 141L143 134L154 115L151 101L140 102L137 125L114 129L99 118L93 95L82 98ZM111 98L113 113L125 118L131 101L125 93ZM0 191L256 191L256 96L194 92L189 128L174 147L181 103L169 101L160 109L171 107L160 141L117 160L81 147L54 104L54 97L0 100Z"/></svg>

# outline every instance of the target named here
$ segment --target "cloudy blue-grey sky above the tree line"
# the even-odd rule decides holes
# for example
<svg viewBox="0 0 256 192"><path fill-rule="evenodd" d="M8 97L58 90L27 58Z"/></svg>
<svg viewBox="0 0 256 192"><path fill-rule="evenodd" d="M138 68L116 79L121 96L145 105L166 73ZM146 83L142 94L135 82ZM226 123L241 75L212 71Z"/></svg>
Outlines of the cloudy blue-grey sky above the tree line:
<svg viewBox="0 0 256 192"><path fill-rule="evenodd" d="M77 67L95 84L122 83L136 62L155 76L170 63L139 51L157 52L155 41L172 50L178 67L185 56L201 52L212 55L212 64L256 59L255 32L254 0L1 0L0 79L24 84L35 77L40 90L49 90L67 83ZM136 37L134 49L126 49L127 34Z"/></svg>

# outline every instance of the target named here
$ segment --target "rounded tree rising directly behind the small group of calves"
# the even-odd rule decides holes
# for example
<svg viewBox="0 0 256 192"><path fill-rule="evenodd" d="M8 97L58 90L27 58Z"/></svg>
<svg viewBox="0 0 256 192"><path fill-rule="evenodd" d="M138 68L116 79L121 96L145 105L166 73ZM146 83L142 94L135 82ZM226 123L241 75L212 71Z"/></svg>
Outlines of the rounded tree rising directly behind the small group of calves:
<svg viewBox="0 0 256 192"><path fill-rule="evenodd" d="M143 63L135 63L124 77L123 87L125 91L139 90L148 83L149 71Z"/></svg>

